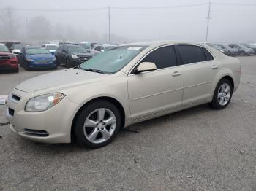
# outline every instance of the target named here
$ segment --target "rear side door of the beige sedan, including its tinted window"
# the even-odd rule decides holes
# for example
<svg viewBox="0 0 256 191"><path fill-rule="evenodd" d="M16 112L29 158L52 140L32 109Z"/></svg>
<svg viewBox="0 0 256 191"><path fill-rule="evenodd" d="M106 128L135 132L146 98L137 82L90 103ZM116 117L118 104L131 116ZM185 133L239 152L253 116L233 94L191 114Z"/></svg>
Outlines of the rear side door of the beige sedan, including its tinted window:
<svg viewBox="0 0 256 191"><path fill-rule="evenodd" d="M219 61L204 47L186 44L176 47L184 71L183 105L211 98Z"/></svg>

